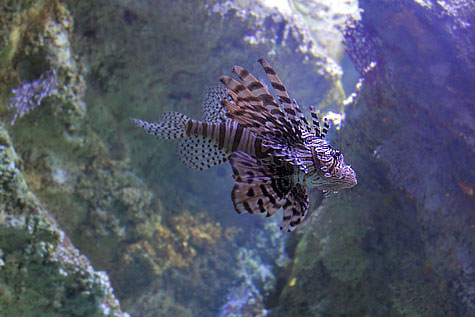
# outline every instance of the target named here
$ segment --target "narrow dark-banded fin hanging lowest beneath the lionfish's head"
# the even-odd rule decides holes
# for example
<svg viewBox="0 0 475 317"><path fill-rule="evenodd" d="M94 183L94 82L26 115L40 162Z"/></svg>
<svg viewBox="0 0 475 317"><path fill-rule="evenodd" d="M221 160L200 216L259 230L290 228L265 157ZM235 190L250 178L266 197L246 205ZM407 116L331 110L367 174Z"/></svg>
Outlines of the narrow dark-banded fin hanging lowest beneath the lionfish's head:
<svg viewBox="0 0 475 317"><path fill-rule="evenodd" d="M293 231L308 212L309 199L305 187L301 184L296 184L290 190L287 200L283 206L284 215L280 230L288 227L287 231Z"/></svg>

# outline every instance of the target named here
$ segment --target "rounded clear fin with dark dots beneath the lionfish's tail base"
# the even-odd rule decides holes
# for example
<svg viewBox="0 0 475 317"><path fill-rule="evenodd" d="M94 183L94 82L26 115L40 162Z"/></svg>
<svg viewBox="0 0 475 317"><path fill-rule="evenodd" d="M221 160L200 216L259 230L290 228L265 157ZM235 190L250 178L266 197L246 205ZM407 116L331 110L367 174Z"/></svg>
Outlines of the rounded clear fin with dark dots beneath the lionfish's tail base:
<svg viewBox="0 0 475 317"><path fill-rule="evenodd" d="M205 170L222 164L229 158L229 153L210 139L187 136L178 143L178 158L187 167Z"/></svg>

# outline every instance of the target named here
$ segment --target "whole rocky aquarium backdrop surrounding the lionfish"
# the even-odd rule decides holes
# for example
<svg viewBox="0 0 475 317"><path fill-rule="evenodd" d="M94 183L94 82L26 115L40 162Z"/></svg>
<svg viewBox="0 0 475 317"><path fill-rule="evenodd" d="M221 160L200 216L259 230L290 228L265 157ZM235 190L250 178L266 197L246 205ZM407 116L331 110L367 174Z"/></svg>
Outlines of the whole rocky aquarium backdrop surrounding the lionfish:
<svg viewBox="0 0 475 317"><path fill-rule="evenodd" d="M266 2L0 2L1 314L471 315L473 2ZM259 57L358 174L292 234L129 120Z"/></svg>

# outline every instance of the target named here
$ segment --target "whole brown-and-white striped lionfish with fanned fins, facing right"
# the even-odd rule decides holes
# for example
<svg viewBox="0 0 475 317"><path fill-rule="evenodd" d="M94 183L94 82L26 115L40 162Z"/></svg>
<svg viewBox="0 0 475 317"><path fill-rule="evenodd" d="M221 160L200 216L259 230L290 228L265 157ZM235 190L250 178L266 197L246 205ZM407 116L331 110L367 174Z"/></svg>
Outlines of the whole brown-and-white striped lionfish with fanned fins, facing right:
<svg viewBox="0 0 475 317"><path fill-rule="evenodd" d="M222 76L225 87L205 93L203 121L178 112L164 113L157 122L132 121L159 139L178 140L178 157L188 167L203 170L229 160L236 211L272 216L283 208L280 229L293 231L309 208L307 188L328 195L355 186L356 174L325 140L328 121L320 127L313 109L307 120L269 63L258 62L277 100L250 72L234 66L239 80Z"/></svg>

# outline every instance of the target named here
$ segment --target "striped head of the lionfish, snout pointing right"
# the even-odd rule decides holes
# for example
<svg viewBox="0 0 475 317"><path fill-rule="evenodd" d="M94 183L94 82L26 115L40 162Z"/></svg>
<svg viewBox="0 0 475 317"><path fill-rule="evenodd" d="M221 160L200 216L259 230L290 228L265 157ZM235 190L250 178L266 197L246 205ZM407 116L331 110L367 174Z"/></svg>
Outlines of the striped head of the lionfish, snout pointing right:
<svg viewBox="0 0 475 317"><path fill-rule="evenodd" d="M343 154L329 145L325 151L314 152L315 171L309 179L310 186L326 192L337 192L357 184L356 173L345 164Z"/></svg>

